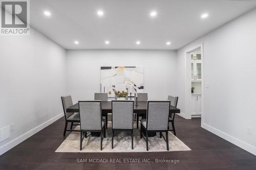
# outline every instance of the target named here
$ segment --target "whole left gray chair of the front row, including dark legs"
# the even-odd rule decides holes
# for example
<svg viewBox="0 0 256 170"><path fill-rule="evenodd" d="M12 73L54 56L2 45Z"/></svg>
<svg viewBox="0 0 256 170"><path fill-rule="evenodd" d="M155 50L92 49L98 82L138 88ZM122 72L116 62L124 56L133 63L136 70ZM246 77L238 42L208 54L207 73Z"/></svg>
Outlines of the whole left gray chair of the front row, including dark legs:
<svg viewBox="0 0 256 170"><path fill-rule="evenodd" d="M82 140L87 137L87 132L100 132L100 150L102 150L103 135L105 137L105 119L102 119L101 101L79 101L80 116L80 151Z"/></svg>

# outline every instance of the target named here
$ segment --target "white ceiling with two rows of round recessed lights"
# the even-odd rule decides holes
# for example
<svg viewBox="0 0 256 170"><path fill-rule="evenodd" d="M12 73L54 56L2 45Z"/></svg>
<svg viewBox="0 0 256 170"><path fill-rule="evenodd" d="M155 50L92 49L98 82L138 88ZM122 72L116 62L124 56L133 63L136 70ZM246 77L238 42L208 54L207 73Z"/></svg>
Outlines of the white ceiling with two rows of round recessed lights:
<svg viewBox="0 0 256 170"><path fill-rule="evenodd" d="M176 50L255 7L254 0L30 0L30 23L66 49Z"/></svg>

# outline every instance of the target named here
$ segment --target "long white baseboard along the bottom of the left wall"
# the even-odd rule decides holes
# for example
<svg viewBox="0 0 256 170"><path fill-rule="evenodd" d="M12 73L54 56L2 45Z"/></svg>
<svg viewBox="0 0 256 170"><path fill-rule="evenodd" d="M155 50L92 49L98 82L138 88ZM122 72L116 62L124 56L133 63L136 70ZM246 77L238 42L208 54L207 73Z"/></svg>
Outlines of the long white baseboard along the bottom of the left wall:
<svg viewBox="0 0 256 170"><path fill-rule="evenodd" d="M23 142L24 140L26 140L27 138L29 138L30 136L34 135L35 133L39 132L40 130L46 128L47 126L51 125L52 123L54 123L56 120L58 120L59 118L61 118L64 115L64 113L60 113L57 116L51 118L50 120L47 120L45 123L42 123L41 125L35 127L34 129L26 132L23 135L20 135L19 137L13 139L12 141L6 143L5 145L3 145L0 148L0 155L4 154L5 152L9 151L10 149L12 149L13 147L15 147L17 144Z"/></svg>

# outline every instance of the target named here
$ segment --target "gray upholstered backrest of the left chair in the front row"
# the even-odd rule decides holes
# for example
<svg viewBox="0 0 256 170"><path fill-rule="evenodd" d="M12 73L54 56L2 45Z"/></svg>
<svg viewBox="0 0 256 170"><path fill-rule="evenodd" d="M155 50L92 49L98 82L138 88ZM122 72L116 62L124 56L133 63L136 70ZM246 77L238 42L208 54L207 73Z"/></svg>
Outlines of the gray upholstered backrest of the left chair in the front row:
<svg viewBox="0 0 256 170"><path fill-rule="evenodd" d="M79 101L81 130L101 130L101 101Z"/></svg>

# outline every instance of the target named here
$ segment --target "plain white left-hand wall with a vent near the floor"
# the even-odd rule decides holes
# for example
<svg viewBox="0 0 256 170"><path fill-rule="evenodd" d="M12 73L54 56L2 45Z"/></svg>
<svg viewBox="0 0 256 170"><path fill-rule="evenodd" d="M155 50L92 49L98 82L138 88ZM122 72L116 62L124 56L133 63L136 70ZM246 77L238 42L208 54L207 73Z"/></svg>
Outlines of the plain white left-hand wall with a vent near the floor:
<svg viewBox="0 0 256 170"><path fill-rule="evenodd" d="M33 28L29 36L0 37L0 155L62 116L66 50Z"/></svg>

